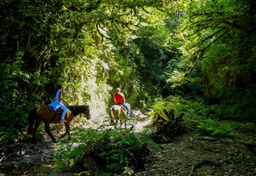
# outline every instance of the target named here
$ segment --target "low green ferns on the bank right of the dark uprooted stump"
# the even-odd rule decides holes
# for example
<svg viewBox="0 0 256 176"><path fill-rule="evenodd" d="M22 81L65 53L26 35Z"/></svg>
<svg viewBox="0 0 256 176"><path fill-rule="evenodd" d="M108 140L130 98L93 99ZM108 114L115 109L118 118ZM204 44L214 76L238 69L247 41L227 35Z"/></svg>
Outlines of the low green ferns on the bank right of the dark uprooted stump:
<svg viewBox="0 0 256 176"><path fill-rule="evenodd" d="M184 99L183 97L167 97L157 99L153 110L152 121L167 119L163 109L174 110L175 117L185 113L185 124L196 129L196 133L210 135L212 137L235 137L237 131L255 133L255 124L239 123L237 121L220 121L216 106L208 106L203 99Z"/></svg>

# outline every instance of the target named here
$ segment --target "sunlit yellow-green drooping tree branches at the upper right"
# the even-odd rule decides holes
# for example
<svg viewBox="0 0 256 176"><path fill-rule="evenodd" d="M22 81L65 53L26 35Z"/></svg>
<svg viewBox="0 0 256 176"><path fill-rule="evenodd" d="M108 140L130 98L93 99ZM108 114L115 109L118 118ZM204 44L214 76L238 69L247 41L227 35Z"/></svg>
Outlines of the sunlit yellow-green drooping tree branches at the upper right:
<svg viewBox="0 0 256 176"><path fill-rule="evenodd" d="M214 43L226 35L234 36L246 25L248 10L243 1L192 1L178 36L184 59L192 63L185 79Z"/></svg>

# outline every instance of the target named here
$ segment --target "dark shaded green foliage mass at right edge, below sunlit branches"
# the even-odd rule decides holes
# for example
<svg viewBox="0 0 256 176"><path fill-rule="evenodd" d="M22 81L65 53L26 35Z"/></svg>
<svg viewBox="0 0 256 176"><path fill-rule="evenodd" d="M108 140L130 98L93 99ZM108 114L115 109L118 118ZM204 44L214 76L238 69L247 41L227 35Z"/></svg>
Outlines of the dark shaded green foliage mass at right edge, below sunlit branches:
<svg viewBox="0 0 256 176"><path fill-rule="evenodd" d="M205 55L202 69L207 81L207 96L220 99L217 110L223 119L255 122L252 117L256 113L253 98L256 83L251 81L255 77L255 56L251 41L246 38L240 35L235 39L223 39L222 44L218 43ZM250 54L241 50L244 45L248 46Z"/></svg>

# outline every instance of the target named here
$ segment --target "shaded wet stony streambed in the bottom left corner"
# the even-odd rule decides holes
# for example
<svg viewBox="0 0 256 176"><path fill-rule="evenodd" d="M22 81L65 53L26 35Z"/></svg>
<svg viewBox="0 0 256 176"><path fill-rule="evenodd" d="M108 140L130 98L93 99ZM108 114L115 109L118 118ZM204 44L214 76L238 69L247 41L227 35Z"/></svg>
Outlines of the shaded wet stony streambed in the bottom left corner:
<svg viewBox="0 0 256 176"><path fill-rule="evenodd" d="M1 175L49 175L55 168L52 162L57 143L42 141L36 145L30 142L17 142L1 146Z"/></svg>

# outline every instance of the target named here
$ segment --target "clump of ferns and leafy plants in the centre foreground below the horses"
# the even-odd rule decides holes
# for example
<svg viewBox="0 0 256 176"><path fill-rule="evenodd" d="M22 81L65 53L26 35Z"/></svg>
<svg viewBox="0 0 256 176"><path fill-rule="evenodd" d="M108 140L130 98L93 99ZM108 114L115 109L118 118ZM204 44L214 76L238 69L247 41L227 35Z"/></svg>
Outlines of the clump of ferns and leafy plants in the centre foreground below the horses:
<svg viewBox="0 0 256 176"><path fill-rule="evenodd" d="M156 153L160 152L161 149L149 138L147 133L128 133L127 130L110 130L107 133L107 130L76 128L71 133L73 136L72 144L61 145L55 151L56 164L60 167L73 166L86 153L86 155L96 155L96 158L100 158L98 161L102 163L98 164L105 170L104 175L120 172L132 173L136 167L136 162L138 162L137 159L142 157L134 156L137 148L147 144L149 149Z"/></svg>

